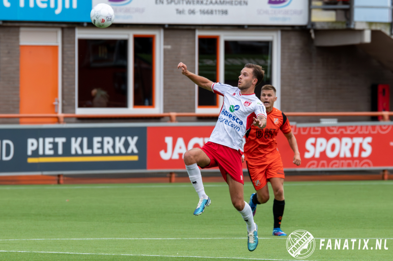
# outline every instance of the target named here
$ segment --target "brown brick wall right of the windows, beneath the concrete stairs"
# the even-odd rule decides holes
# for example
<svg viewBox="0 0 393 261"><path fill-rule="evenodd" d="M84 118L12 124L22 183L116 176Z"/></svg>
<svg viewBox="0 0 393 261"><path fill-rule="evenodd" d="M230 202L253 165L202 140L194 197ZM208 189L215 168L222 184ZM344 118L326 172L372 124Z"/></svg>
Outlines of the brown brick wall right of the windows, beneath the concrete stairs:
<svg viewBox="0 0 393 261"><path fill-rule="evenodd" d="M370 111L374 83L393 88L393 73L358 47L315 47L307 30L281 31L283 111ZM339 121L369 119L343 117ZM318 122L319 117L292 120Z"/></svg>

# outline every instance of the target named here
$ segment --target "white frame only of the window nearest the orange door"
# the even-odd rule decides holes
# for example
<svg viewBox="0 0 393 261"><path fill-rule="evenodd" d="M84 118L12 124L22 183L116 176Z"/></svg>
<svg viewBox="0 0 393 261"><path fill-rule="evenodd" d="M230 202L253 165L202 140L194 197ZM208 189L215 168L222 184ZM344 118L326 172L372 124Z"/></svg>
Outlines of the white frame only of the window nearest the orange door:
<svg viewBox="0 0 393 261"><path fill-rule="evenodd" d="M155 36L154 107L134 108L134 35ZM128 40L128 107L127 108L79 108L78 107L78 40L124 39ZM154 114L163 112L163 29L84 28L75 30L75 113L76 114Z"/></svg>

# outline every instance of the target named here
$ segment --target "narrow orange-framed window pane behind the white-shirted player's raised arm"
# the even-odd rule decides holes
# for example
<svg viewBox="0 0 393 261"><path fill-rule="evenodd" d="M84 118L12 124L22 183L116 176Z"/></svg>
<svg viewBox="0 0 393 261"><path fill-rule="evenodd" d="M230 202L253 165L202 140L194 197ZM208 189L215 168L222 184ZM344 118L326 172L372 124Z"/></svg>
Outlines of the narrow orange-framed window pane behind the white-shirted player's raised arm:
<svg viewBox="0 0 393 261"><path fill-rule="evenodd" d="M219 81L219 37L198 37L198 75ZM198 86L198 107L218 107L218 95Z"/></svg>

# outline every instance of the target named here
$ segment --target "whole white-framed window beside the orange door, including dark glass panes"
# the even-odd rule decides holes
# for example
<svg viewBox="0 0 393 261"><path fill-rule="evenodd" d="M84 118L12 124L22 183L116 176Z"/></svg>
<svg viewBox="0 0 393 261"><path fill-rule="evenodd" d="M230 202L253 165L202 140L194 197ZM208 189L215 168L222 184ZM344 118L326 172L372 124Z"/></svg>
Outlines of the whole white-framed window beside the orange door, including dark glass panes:
<svg viewBox="0 0 393 261"><path fill-rule="evenodd" d="M158 30L77 30L77 113L160 113Z"/></svg>

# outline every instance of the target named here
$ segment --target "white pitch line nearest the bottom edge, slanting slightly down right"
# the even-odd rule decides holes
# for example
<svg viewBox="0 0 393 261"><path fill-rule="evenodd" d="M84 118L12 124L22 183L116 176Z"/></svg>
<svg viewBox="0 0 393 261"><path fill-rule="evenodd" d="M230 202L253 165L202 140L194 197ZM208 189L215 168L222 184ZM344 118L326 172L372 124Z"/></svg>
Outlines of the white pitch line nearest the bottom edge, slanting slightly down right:
<svg viewBox="0 0 393 261"><path fill-rule="evenodd" d="M225 257L164 256L164 255L137 255L137 254L100 254L100 253L44 252L44 251L7 251L7 250L0 250L0 252L7 252L7 253L42 253L42 254L71 254L71 255L99 255L99 256L134 256L134 257L166 257L166 258L209 258L209 259L298 261L298 260L292 260L292 259L225 258Z"/></svg>

